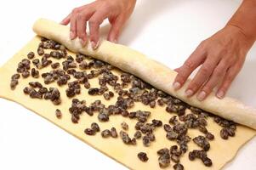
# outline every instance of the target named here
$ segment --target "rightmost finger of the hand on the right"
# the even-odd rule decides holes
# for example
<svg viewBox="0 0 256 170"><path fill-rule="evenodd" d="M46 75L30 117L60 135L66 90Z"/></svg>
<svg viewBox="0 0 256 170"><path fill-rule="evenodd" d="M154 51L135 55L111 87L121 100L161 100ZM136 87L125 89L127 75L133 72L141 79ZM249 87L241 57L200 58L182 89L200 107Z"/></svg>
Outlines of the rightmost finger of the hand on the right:
<svg viewBox="0 0 256 170"><path fill-rule="evenodd" d="M230 67L230 69L227 71L224 77L222 84L219 87L218 92L216 93L216 97L218 97L219 99L223 99L225 97L225 94L230 88L231 82L233 82L233 80L235 79L236 75L240 70L241 69L236 65Z"/></svg>

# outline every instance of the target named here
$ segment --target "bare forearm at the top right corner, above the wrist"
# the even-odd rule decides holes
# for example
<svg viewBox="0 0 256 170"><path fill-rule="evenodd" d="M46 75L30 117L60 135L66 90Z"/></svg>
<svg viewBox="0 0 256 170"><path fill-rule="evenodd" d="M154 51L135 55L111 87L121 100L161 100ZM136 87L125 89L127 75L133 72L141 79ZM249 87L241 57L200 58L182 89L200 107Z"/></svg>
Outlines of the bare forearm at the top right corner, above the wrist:
<svg viewBox="0 0 256 170"><path fill-rule="evenodd" d="M252 42L256 40L256 0L243 0L227 26L236 26Z"/></svg>

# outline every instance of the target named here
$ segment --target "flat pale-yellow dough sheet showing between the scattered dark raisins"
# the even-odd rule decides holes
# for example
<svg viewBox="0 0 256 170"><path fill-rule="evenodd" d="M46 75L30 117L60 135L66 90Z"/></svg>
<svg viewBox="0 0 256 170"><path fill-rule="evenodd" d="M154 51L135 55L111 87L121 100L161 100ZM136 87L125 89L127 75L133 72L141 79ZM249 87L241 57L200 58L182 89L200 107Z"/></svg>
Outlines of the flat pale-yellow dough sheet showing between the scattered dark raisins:
<svg viewBox="0 0 256 170"><path fill-rule="evenodd" d="M122 163L124 166L131 169L160 169L158 166L158 156L156 155L156 150L162 149L163 147L170 147L175 142L169 141L165 138L166 133L162 128L156 128L156 141L151 143L150 147L145 147L142 144L141 139L137 140L137 145L127 145L123 144L120 138L117 139L103 139L100 136L100 133L97 133L95 136L88 136L83 133L83 130L86 127L90 127L92 122L97 122L100 125L100 129L104 130L105 128L110 129L111 127L116 127L117 132L121 130L121 122L125 121L129 124L128 134L129 136L134 135L134 125L136 123L135 120L131 120L128 118L124 118L122 116L110 116L109 122L99 122L97 119L97 114L94 116L88 116L83 113L81 119L78 124L74 124L71 122L71 114L68 111L68 108L71 106L71 99L68 99L65 96L65 88L66 87L58 87L61 93L62 103L59 106L53 105L50 101L44 99L31 99L29 96L23 94L23 88L28 86L28 82L36 81L32 77L28 77L26 79L21 78L19 80L19 85L13 91L9 88L10 77L15 73L16 67L21 59L26 58L26 54L30 51L37 51L37 45L40 42L39 37L34 37L31 42L29 42L24 48L20 50L17 54L14 55L12 59L10 59L3 67L0 68L0 97L4 99L12 100L20 105L25 106L27 109L36 112L39 116L43 116L50 122L53 122L58 127L63 128L66 132L71 133L76 136L78 139L81 139L86 144L91 145L96 150L100 150L106 156L110 156L112 159ZM69 52L72 56L75 57L75 54ZM37 54L36 54L36 57ZM52 59L55 61L54 59ZM57 61L57 60L56 60ZM61 62L60 60L58 62ZM43 72L47 72L50 68L44 68L40 70L40 74ZM120 75L121 71L115 69L113 71L116 75ZM38 82L43 82L43 78L40 77L37 79ZM92 87L98 87L98 79L94 78L90 80ZM45 85L47 88L56 87L56 83L51 83L49 85ZM109 87L110 88L110 87ZM100 99L103 101L105 105L113 104L117 99L117 94L110 101L106 101L102 98L102 96L89 96L87 93L87 89L82 88L82 93L77 95L75 98L77 99L86 99L87 105L92 103L95 99ZM57 119L54 111L56 109L60 109L62 111L63 116L61 119ZM163 123L168 123L168 119L175 115L169 114L165 111L165 107L161 107L159 105L156 108L151 109L149 106L142 105L141 103L135 103L135 106L130 111L151 111L151 116L149 121L152 119L160 119ZM203 169L220 169L227 163L232 160L234 156L236 156L237 150L239 150L243 144L245 144L249 139L252 139L256 134L251 128L244 127L241 125L237 126L236 137L230 138L228 140L220 139L219 130L220 127L217 123L213 122L213 118L208 118L208 130L215 135L215 139L210 141L211 149L208 151L208 156L213 161L212 167L203 166L202 162L199 160L189 161L188 153L181 157L181 163L185 166L185 169L190 170L203 170ZM199 134L197 130L189 130L189 136L196 137ZM192 149L200 149L193 142L189 142L189 150ZM140 151L145 151L149 157L149 161L146 163L139 161L137 158L137 154ZM87 154L84 154L87 156ZM174 163L169 166L167 169L173 169Z"/></svg>

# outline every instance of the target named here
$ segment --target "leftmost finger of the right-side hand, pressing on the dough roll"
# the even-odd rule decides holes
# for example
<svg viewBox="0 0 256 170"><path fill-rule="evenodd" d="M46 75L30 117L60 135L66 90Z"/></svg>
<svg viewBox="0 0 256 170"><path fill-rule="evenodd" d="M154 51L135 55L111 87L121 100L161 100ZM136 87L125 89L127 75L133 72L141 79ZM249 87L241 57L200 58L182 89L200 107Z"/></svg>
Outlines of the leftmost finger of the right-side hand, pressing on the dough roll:
<svg viewBox="0 0 256 170"><path fill-rule="evenodd" d="M176 69L176 71L178 71L178 75L175 77L174 80L174 89L177 90L181 88L184 85L187 78L191 75L191 73L195 71L195 69L199 65L202 65L205 59L205 52L202 50L200 46L198 46L196 50L191 54L189 59L187 59L181 67Z"/></svg>

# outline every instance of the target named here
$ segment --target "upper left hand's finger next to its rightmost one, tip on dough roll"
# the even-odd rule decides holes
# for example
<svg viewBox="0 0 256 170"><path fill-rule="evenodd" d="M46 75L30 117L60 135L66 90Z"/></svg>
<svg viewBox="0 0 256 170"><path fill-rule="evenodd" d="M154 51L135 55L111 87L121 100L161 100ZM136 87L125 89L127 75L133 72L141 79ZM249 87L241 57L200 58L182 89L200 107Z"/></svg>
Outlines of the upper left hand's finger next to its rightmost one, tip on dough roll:
<svg viewBox="0 0 256 170"><path fill-rule="evenodd" d="M94 13L94 15L89 19L89 30L90 30L90 42L92 48L96 49L99 45L100 39L100 24L107 18L107 13L100 11Z"/></svg>

